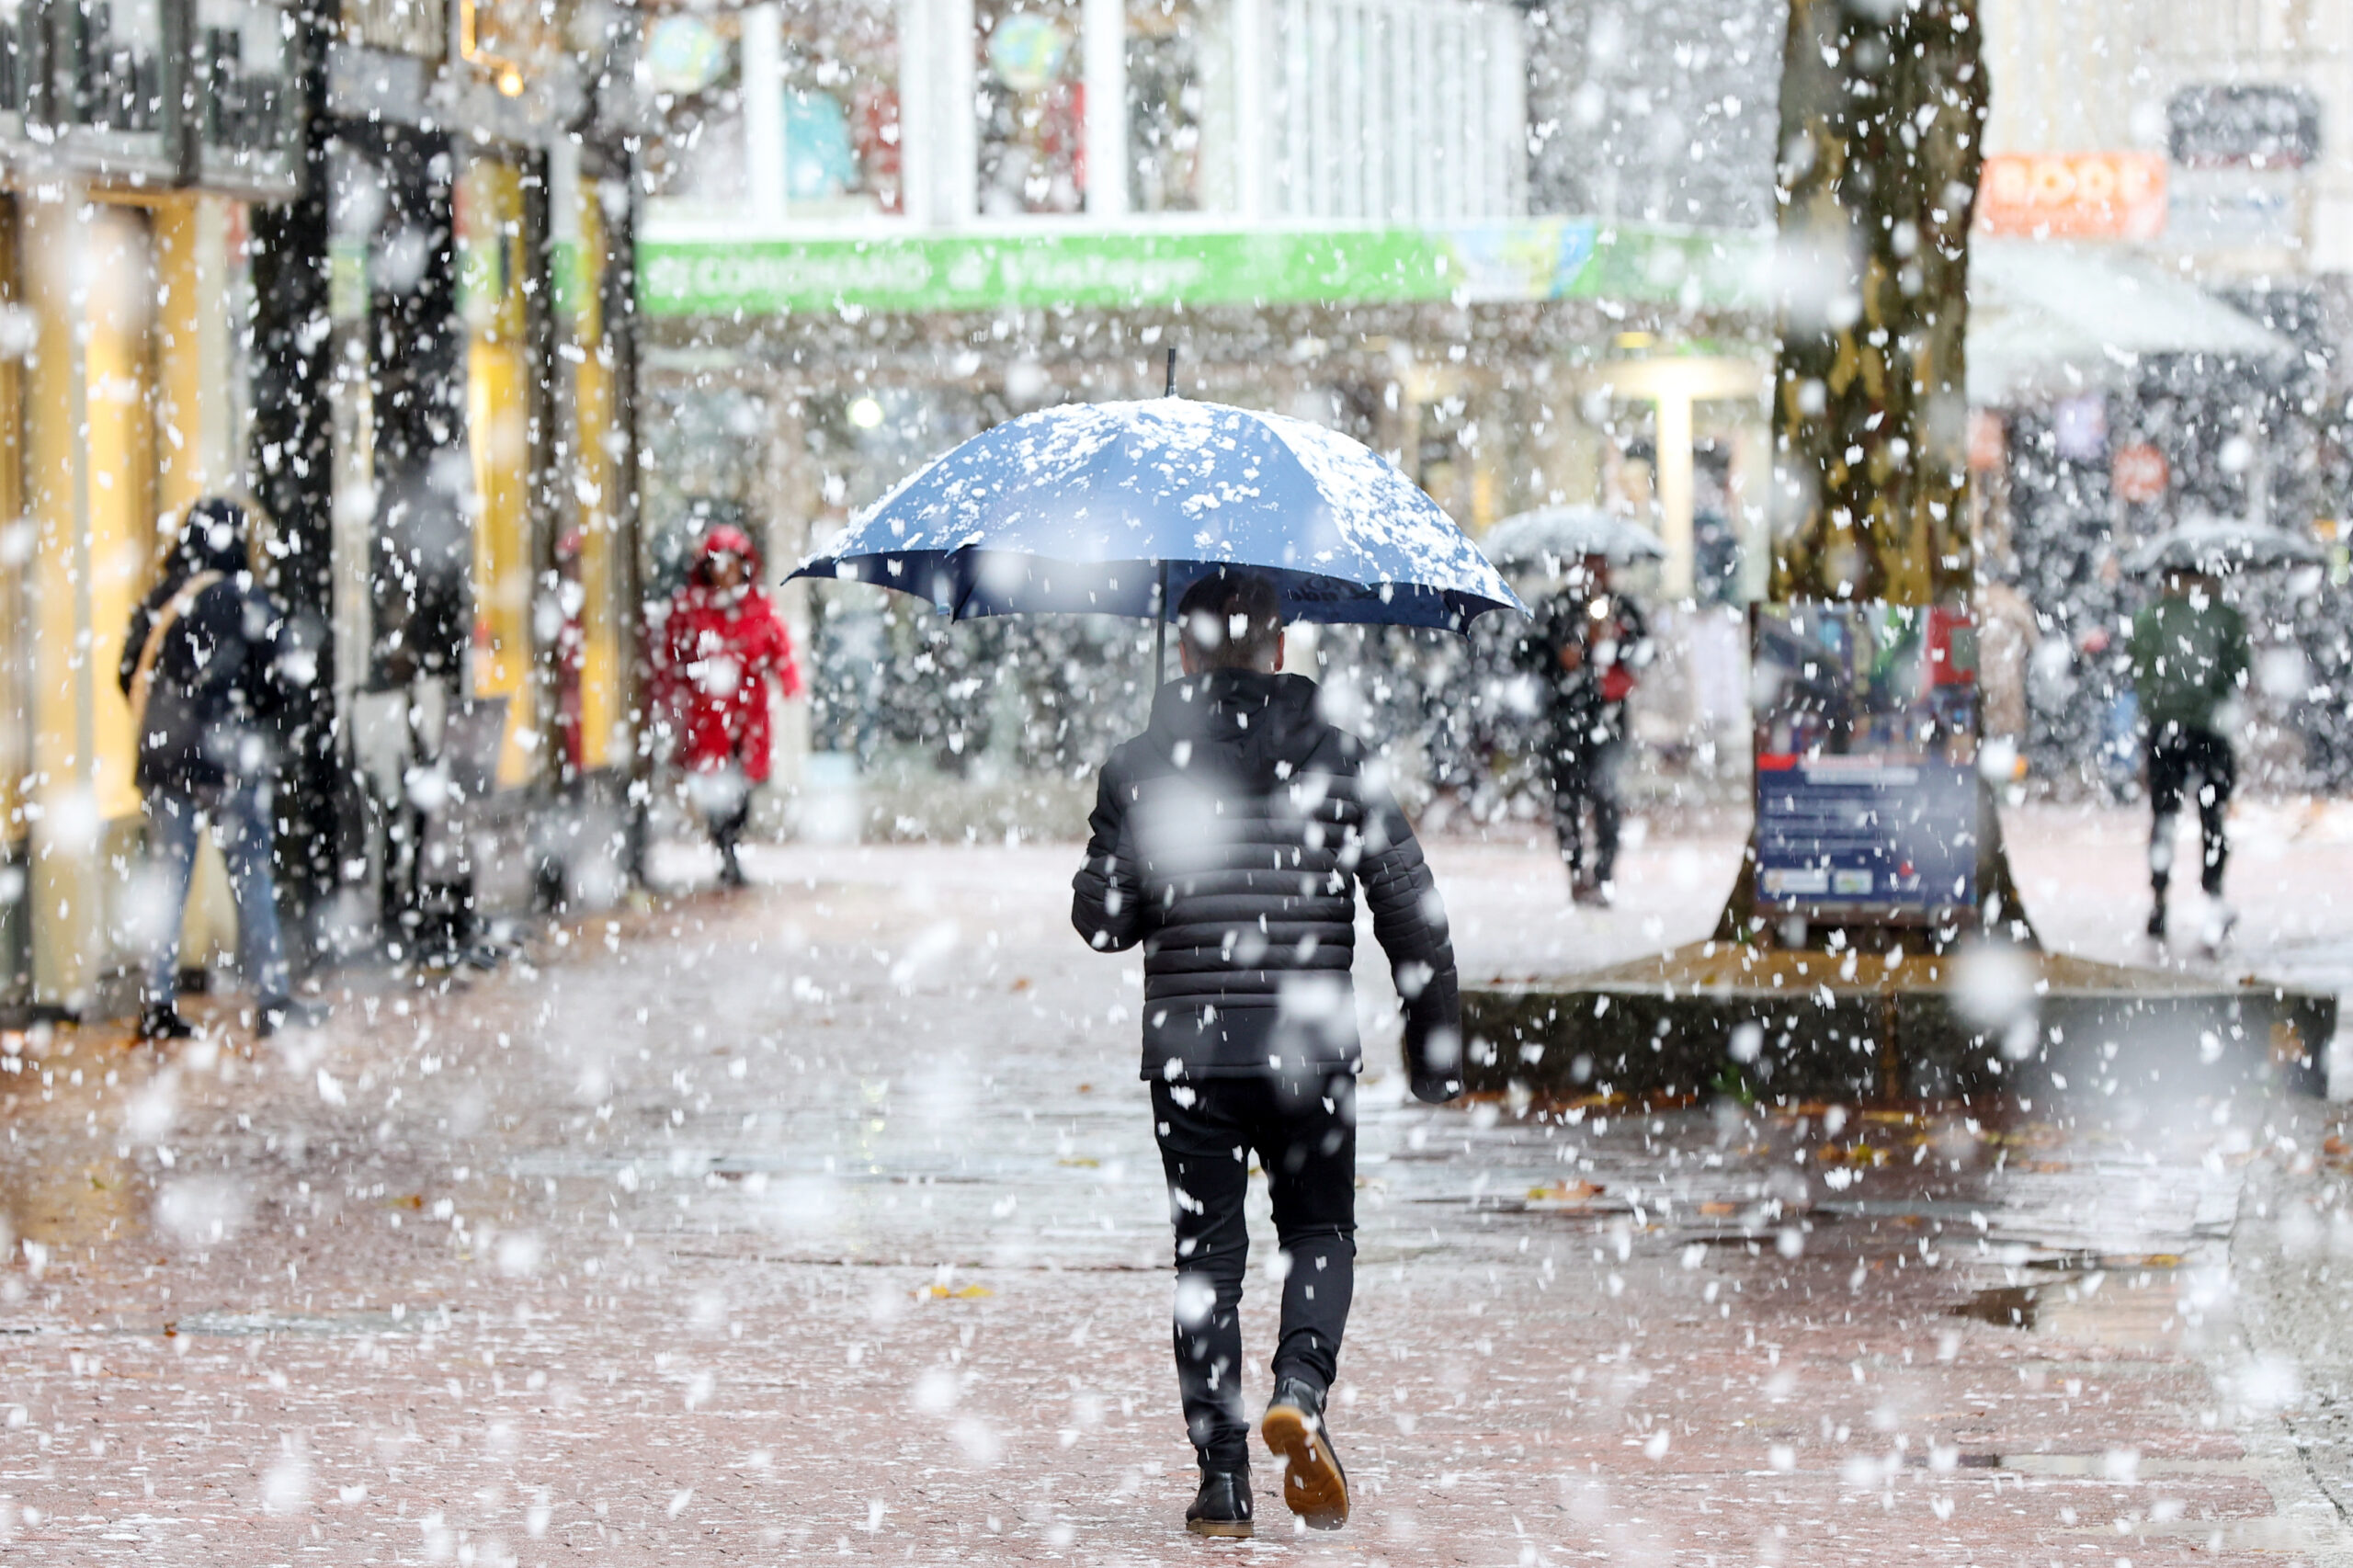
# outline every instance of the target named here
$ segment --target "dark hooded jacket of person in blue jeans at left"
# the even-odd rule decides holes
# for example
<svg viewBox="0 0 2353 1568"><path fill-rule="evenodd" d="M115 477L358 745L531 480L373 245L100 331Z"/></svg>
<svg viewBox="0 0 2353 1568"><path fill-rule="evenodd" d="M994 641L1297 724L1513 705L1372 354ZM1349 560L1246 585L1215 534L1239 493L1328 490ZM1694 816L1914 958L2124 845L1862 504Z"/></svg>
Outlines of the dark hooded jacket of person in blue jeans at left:
<svg viewBox="0 0 2353 1568"><path fill-rule="evenodd" d="M162 584L132 610L122 636L118 676L129 697L155 617L195 572L221 574L162 636L139 725L139 789L193 793L252 784L268 777L275 763L285 617L247 572L242 539L212 546L205 532L188 530Z"/></svg>

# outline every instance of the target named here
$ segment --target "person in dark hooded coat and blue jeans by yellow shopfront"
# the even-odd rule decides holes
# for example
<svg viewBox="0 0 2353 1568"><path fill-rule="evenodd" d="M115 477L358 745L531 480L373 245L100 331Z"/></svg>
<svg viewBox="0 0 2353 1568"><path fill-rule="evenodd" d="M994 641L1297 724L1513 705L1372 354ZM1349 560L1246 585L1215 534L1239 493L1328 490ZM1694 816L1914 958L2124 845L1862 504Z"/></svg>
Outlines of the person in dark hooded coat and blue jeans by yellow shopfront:
<svg viewBox="0 0 2353 1568"><path fill-rule="evenodd" d="M315 1008L292 996L271 876L282 629L285 614L247 560L245 509L219 497L193 504L162 582L132 612L118 671L139 735L136 777L160 876L141 1038L191 1034L179 1015L179 928L205 819L228 862L238 961L254 989L261 1034L318 1019Z"/></svg>

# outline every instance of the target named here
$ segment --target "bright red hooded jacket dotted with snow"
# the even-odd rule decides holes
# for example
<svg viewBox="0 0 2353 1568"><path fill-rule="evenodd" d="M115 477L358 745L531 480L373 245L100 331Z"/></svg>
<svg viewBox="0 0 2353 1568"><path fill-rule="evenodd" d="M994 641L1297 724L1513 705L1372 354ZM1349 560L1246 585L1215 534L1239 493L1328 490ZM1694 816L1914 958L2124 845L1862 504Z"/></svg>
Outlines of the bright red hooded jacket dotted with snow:
<svg viewBox="0 0 2353 1568"><path fill-rule="evenodd" d="M711 565L736 556L751 567L741 589L711 586ZM713 772L729 763L753 784L767 782L769 704L774 678L786 697L800 695L793 638L776 600L760 589L760 551L741 527L713 527L701 558L671 598L654 643L654 697L678 725L678 763Z"/></svg>

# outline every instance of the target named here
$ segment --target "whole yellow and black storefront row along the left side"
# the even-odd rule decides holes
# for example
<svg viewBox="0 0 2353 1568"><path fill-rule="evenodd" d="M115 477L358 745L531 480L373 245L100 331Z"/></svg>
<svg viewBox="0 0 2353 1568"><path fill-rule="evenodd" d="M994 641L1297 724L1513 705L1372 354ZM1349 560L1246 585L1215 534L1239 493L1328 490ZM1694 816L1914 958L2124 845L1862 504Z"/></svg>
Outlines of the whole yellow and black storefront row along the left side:
<svg viewBox="0 0 2353 1568"><path fill-rule="evenodd" d="M381 598L395 480L438 476L452 501L454 593L400 610L402 624L447 612L431 662L449 697L508 699L492 784L553 789L565 768L612 760L626 659L609 570L607 603L579 607L602 650L586 662L605 727L576 760L539 744L562 629L544 631L532 603L558 598L558 537L609 563L628 525L600 297L626 191L614 221L616 151L579 115L593 94L567 38L536 7L461 9L351 5L327 38L266 0L56 0L0 35L14 64L0 71L0 516L21 518L0 539L9 1012L118 1008L153 937L115 669L176 518L205 494L252 509L256 570L315 671L278 789L282 897L306 951L376 928L351 909L374 906L384 876L355 751L362 697L386 683L384 622L344 612ZM405 120L384 113L402 82ZM553 210L558 184L572 212ZM374 252L336 245L367 224ZM191 968L235 946L207 862ZM367 897L339 899L353 888Z"/></svg>

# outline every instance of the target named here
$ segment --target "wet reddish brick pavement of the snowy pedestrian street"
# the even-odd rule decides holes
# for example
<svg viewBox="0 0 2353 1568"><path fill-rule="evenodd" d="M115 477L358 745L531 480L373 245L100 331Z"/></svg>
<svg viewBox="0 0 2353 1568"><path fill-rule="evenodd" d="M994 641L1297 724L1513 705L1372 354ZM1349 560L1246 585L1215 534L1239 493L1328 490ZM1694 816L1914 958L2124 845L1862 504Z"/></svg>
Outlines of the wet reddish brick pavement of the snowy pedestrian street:
<svg viewBox="0 0 2353 1568"><path fill-rule="evenodd" d="M2329 822L2247 817L2219 963L2341 984ZM1699 935L1737 848L1638 848L1614 911L1433 857L1489 975ZM2129 817L2012 850L2054 944L2144 956ZM9 1036L0 1556L2353 1561L2337 1107L1433 1111L1391 1038L1358 1516L1299 1537L1261 1469L1261 1540L1181 1535L1139 968L1071 859L767 850L304 1038Z"/></svg>

